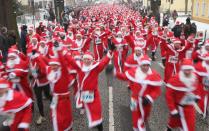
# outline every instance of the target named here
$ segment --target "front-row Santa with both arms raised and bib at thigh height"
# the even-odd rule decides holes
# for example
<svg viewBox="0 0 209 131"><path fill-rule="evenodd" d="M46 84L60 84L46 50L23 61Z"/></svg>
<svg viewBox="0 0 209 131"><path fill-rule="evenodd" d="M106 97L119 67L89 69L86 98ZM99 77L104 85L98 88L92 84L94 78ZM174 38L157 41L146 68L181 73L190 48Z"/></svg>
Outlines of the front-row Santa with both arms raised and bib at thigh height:
<svg viewBox="0 0 209 131"><path fill-rule="evenodd" d="M114 45L111 46L114 50ZM112 55L110 52L100 62L94 60L90 52L86 52L81 62L75 62L70 55L65 55L69 62L78 72L78 83L80 95L77 97L82 102L89 128L97 128L103 131L102 107L98 88L98 77L102 70L108 65Z"/></svg>

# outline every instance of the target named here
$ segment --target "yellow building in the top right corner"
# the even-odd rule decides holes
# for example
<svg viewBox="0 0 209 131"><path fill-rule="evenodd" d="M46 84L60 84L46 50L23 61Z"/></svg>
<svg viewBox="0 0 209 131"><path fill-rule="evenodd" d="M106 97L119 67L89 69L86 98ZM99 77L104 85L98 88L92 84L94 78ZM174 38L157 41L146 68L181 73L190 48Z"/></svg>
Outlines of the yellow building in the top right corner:
<svg viewBox="0 0 209 131"><path fill-rule="evenodd" d="M209 24L209 0L193 0L192 19Z"/></svg>

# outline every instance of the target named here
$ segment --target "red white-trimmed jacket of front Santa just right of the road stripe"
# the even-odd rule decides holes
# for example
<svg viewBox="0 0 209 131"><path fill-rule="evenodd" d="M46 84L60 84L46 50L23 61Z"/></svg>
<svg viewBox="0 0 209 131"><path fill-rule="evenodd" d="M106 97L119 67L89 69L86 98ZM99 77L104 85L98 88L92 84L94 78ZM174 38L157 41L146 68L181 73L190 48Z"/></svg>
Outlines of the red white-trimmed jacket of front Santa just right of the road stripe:
<svg viewBox="0 0 209 131"><path fill-rule="evenodd" d="M147 97L150 102L154 102L161 94L161 77L155 70L151 69L149 69L146 76L141 77L142 71L140 70L140 67L132 68L126 71L125 74L116 75L122 80L129 81L134 99L137 100L138 97Z"/></svg>

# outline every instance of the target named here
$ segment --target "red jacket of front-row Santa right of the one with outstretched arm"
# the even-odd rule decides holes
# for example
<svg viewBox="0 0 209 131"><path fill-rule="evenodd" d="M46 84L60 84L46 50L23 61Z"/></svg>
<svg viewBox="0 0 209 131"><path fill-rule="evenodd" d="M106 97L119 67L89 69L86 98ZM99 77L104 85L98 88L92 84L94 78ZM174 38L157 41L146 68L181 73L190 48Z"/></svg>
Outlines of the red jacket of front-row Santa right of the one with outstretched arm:
<svg viewBox="0 0 209 131"><path fill-rule="evenodd" d="M180 80L180 73L171 77L166 85L166 101L171 114L178 113L178 106L192 105L199 99L198 76L194 74L194 83L187 86Z"/></svg>

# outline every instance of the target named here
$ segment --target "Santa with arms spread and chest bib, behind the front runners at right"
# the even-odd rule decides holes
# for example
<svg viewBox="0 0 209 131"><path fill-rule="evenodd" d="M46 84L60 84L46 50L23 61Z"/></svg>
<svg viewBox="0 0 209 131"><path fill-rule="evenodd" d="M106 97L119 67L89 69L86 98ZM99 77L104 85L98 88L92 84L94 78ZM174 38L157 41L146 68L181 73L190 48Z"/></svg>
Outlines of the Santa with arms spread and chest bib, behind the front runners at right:
<svg viewBox="0 0 209 131"><path fill-rule="evenodd" d="M181 46L181 41L178 38L174 38L171 44L163 44L166 50L166 62L165 62L165 72L164 72L164 81L167 82L168 79L177 74L179 71L179 64L181 60L185 57L186 51L192 46L190 43Z"/></svg>

